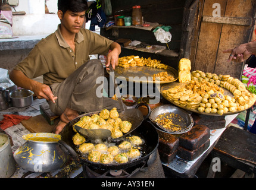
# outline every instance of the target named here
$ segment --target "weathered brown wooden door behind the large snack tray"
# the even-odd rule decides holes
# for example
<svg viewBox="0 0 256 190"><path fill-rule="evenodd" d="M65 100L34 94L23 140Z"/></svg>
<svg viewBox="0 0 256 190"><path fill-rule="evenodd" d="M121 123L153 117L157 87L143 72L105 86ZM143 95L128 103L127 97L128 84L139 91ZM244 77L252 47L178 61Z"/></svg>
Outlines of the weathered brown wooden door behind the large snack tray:
<svg viewBox="0 0 256 190"><path fill-rule="evenodd" d="M192 69L241 78L244 63L227 62L225 49L249 42L255 24L255 0L202 0ZM195 34L196 36L196 34Z"/></svg>

